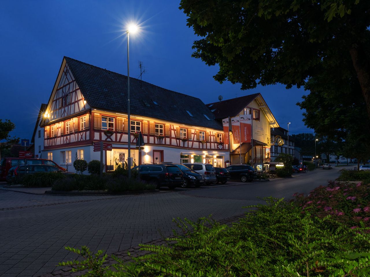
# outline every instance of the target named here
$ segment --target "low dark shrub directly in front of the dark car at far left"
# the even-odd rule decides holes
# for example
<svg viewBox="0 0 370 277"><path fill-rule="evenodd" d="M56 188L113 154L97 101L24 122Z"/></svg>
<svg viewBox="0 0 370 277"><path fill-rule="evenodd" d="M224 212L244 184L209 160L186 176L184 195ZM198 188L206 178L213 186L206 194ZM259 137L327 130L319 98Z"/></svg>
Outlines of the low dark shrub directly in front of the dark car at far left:
<svg viewBox="0 0 370 277"><path fill-rule="evenodd" d="M36 172L26 174L20 181L25 187L51 187L56 180L64 179L65 175L61 172Z"/></svg>

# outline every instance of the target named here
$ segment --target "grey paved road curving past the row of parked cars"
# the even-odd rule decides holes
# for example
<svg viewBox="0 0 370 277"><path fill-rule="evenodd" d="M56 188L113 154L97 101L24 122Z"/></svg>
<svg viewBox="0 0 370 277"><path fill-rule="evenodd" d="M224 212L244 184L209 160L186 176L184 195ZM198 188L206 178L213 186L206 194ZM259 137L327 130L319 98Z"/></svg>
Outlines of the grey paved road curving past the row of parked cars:
<svg viewBox="0 0 370 277"><path fill-rule="evenodd" d="M242 215L257 197L291 198L308 194L339 169L317 169L269 182L229 182L201 188L163 190L122 196L35 195L0 190L0 276L40 276L60 270L59 261L74 258L65 245L87 245L107 254L172 235L173 218L216 220Z"/></svg>

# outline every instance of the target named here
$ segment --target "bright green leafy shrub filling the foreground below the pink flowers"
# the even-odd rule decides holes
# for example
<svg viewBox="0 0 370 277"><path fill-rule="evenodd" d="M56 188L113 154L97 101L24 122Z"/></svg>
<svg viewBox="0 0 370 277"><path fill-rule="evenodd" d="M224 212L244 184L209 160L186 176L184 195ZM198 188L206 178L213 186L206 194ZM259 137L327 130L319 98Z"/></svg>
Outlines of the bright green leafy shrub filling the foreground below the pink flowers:
<svg viewBox="0 0 370 277"><path fill-rule="evenodd" d="M126 263L116 257L114 272L102 251L60 266L91 269L90 276L367 276L369 235L358 234L332 218L301 213L294 203L266 199L228 227L211 219L174 220L174 238L167 245L140 244L152 253ZM207 226L208 224L208 226ZM364 231L364 229L361 229ZM103 266L104 264L104 266Z"/></svg>

